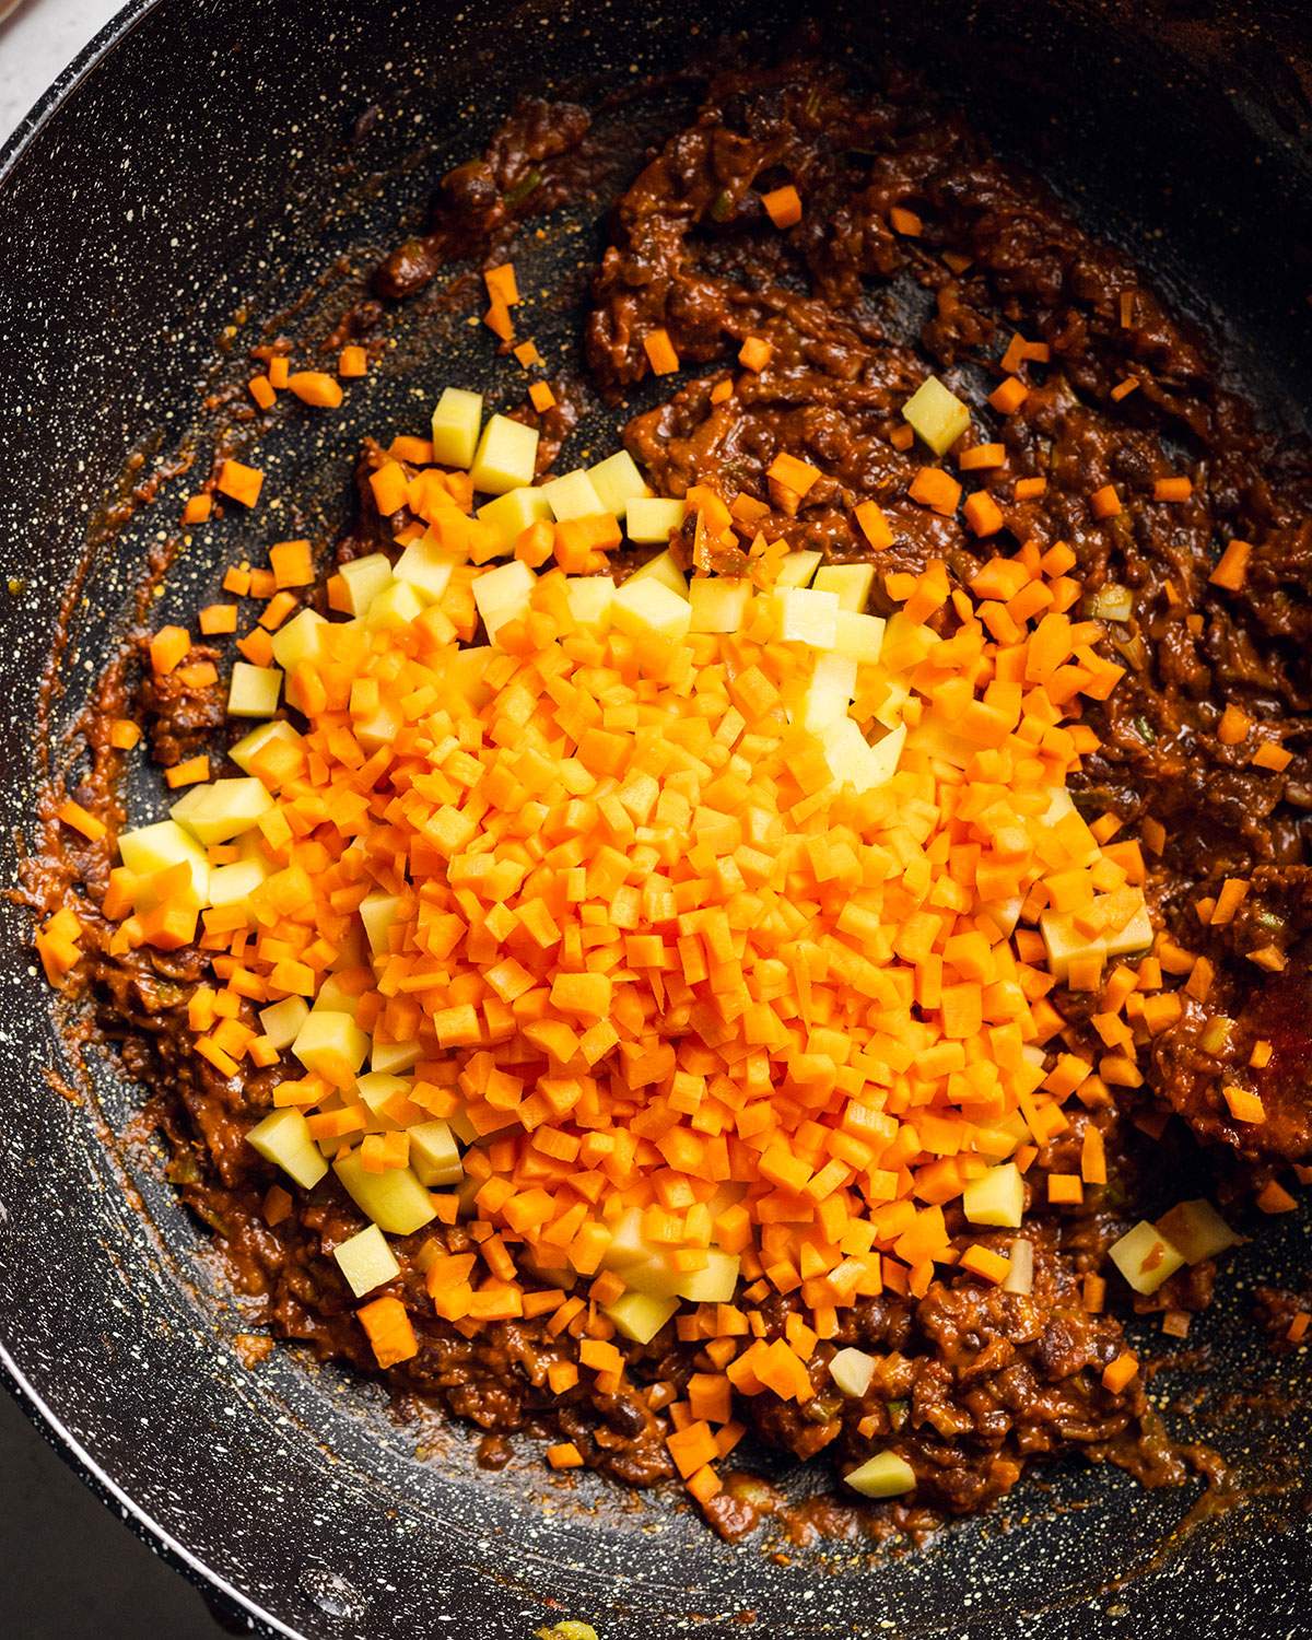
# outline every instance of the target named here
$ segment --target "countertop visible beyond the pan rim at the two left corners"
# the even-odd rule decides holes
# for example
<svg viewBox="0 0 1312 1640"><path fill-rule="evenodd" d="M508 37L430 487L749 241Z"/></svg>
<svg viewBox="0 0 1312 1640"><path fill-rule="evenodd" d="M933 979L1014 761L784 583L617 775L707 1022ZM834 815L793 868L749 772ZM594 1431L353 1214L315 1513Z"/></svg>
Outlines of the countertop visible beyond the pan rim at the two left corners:
<svg viewBox="0 0 1312 1640"><path fill-rule="evenodd" d="M21 0L0 20L0 141L120 5ZM228 1632L200 1594L74 1476L3 1391L0 1540L0 1635L216 1640Z"/></svg>

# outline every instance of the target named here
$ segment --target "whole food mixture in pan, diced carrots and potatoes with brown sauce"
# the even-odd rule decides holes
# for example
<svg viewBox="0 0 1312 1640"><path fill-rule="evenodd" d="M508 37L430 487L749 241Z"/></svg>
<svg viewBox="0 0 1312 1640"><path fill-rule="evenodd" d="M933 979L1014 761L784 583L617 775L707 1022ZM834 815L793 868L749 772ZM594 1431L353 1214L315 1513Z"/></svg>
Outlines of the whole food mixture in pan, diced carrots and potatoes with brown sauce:
<svg viewBox="0 0 1312 1640"><path fill-rule="evenodd" d="M900 97L710 85L587 325L604 389L710 374L559 472L567 384L435 390L335 563L230 571L239 659L230 602L143 640L161 810L113 809L121 669L52 799L46 973L162 1066L271 1325L727 1535L748 1425L904 1520L1071 1446L1179 1479L1117 1312L1182 1337L1237 1235L1169 1112L1237 1210L1309 1178L1260 986L1299 686L1246 592L1297 503L1237 500L1260 441L1132 272ZM482 254L525 369L515 215L585 169L543 107L382 272ZM920 351L864 307L907 274ZM262 362L264 408L371 367Z"/></svg>

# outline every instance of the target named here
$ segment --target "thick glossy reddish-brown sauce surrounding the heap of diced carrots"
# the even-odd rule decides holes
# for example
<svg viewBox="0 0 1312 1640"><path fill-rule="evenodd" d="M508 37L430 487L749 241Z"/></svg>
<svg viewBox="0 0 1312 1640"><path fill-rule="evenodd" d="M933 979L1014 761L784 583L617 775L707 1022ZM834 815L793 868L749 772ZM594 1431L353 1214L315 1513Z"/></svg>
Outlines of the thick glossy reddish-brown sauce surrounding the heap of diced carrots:
<svg viewBox="0 0 1312 1640"><path fill-rule="evenodd" d="M581 108L525 103L482 159L443 179L431 233L384 262L379 292L410 297L453 257L500 259L520 218L595 177L600 161L587 133ZM784 180L795 182L805 200L802 225L787 235L769 225L759 203L761 190ZM922 236L889 230L894 205L923 218ZM923 321L899 321L891 295L902 310L909 298L918 302ZM371 305L351 333L376 320ZM1164 854L1153 861L1153 904L1184 946L1205 951L1217 966L1207 1002L1191 1000L1179 1025L1141 1051L1145 1089L1115 1105L1074 1105L1071 1130L1045 1146L1028 1174L1032 1296L948 1276L920 1302L864 1301L845 1312L835 1346L859 1345L884 1360L879 1394L859 1402L836 1396L823 1364L830 1351L822 1348L817 1397L807 1407L763 1394L740 1412L758 1437L799 1458L828 1451L846 1468L887 1445L902 1451L917 1471L915 1504L881 1510L866 1522L877 1532L925 1532L943 1514L979 1510L1010 1491L1027 1465L1069 1451L1122 1465L1148 1484L1179 1483L1191 1466L1217 1479L1210 1456L1169 1445L1143 1374L1120 1394L1102 1387L1102 1368L1123 1348L1122 1323L1115 1314L1084 1309L1081 1279L1102 1268L1107 1246L1133 1219L1171 1205L1169 1196L1156 1194L1156 1181L1171 1173L1173 1148L1192 1143L1187 1130L1230 1158L1222 1187L1232 1197L1312 1146L1305 1091L1312 897L1302 866L1312 807L1305 461L1278 453L1255 431L1246 407L1217 385L1200 343L1164 313L1130 266L1086 239L1033 182L991 161L963 123L895 80L882 92L854 89L817 62L708 82L692 123L667 134L617 200L585 317L592 385L617 399L640 380L648 369L643 336L658 326L669 331L684 366L704 367L625 430L661 492L712 482L771 503L764 469L787 449L812 459L825 477L795 517L772 513L771 536L820 546L835 559L861 556L851 508L874 497L897 535L881 554L882 567L917 567L941 556L964 579L995 548L1061 540L1074 548L1076 572L1089 589L1117 582L1133 590L1133 613L1110 626L1130 676L1097 713L1102 751L1087 759L1077 782L1081 805L1089 817L1114 810L1127 835L1148 817L1166 827ZM1046 341L1051 364L1028 367L1023 415L1002 420L984 408L984 395L1000 379L997 361L1012 330ZM769 366L759 376L738 372L735 399L715 405L710 387L735 372L748 335L771 341ZM976 407L971 436L1007 449L1005 469L981 476L1005 518L1000 548L997 541L981 548L958 520L905 497L922 456L900 453L889 435L927 369ZM1128 376L1138 389L1114 402L1112 387ZM544 461L574 420L564 394L543 425ZM366 451L362 474L377 459L377 451ZM1181 471L1194 477L1192 499L1155 503L1153 481ZM1045 477L1045 495L1017 502L1018 477ZM1096 523L1087 495L1107 482L1117 484L1125 513ZM1207 579L1232 536L1258 548L1238 594ZM359 518L339 558L379 544L390 548L390 530L361 484ZM690 543L684 556L690 558ZM208 654L197 648L192 658ZM105 674L84 725L92 768L75 795L115 823L121 822L120 759L108 748L105 722L123 710L133 687L161 764L213 748L223 733L221 686L187 690L172 679L133 686L134 676L134 656L125 656ZM1251 769L1251 745L1217 741L1227 702L1241 705L1294 754L1282 774ZM290 1068L228 1082L190 1055L184 1015L200 956L105 956L108 930L95 902L108 863L105 845L71 843L48 827L28 891L43 909L66 894L85 895L92 954L77 979L128 1069L161 1089L151 1115L172 1145L171 1176L215 1228L239 1289L262 1302L271 1332L371 1369L354 1302L330 1256L359 1228L356 1209L330 1178L271 1227L262 1202L274 1179L243 1141ZM1232 874L1253 876L1250 900L1227 930L1202 928L1194 899L1202 886ZM1282 953L1289 977L1269 984L1248 959L1258 946ZM1059 1000L1071 1046L1091 1045L1087 999ZM1237 1025L1222 1053L1209 1055L1199 1033L1215 1012ZM1258 1038L1271 1040L1274 1053L1255 1074L1246 1058ZM1228 1118L1219 1097L1222 1073L1250 1077L1271 1110L1266 1127L1241 1128ZM1187 1130L1173 1125L1161 1141L1146 1138L1133 1118L1155 1104L1179 1112ZM1086 1123L1104 1133L1112 1184L1089 1189L1081 1209L1051 1212L1043 1205L1043 1178L1050 1169L1079 1171ZM953 1228L961 1228L959 1219ZM459 1227L440 1235L453 1251L467 1240ZM546 1371L572 1356L574 1340L551 1338L540 1322L505 1322L472 1338L440 1322L413 1264L423 1240L397 1250L397 1291L421 1342L418 1356L389 1374L399 1389L431 1397L484 1430L479 1455L490 1468L507 1461L507 1435L531 1430L574 1440L589 1465L631 1486L671 1478L661 1409L690 1373L708 1369L705 1358L677 1345L667 1328L649 1346L628 1346L630 1387L622 1394L599 1394L584 1374L576 1391L553 1396ZM1135 1307L1200 1309L1210 1287L1210 1264L1186 1269ZM782 1332L787 1309L787 1299L763 1302L768 1337ZM1278 1296L1269 1309L1286 1314ZM858 1433L863 1419L874 1420L874 1437ZM763 1483L730 1476L707 1514L722 1533L738 1537L776 1507ZM833 1506L813 1506L795 1530L836 1532L848 1520Z"/></svg>

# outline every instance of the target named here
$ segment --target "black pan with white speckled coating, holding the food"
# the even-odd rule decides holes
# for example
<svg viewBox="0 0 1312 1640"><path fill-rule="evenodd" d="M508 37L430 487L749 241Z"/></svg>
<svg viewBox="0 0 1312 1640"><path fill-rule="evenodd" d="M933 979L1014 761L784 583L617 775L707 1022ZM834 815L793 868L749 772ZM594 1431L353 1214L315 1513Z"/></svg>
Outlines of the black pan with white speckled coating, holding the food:
<svg viewBox="0 0 1312 1640"><path fill-rule="evenodd" d="M1220 333L1273 420L1301 425L1305 8L854 0L830 21L858 64L895 48L963 100ZM722 30L771 43L787 26L787 7L768 0L138 0L89 48L0 156L8 881L46 759L69 754L61 736L131 620L187 481L167 479L156 505L121 503L171 454L208 449L203 394L241 382L264 335L321 335L518 93L554 85L595 103ZM669 85L674 105L686 93ZM623 174L646 134L623 105L605 118ZM571 210L569 256L531 253L533 289L577 292L577 262L602 243L600 202ZM507 397L505 367L464 323L471 305L399 308L385 367L339 415L284 420L262 441L274 490L298 497L280 533L330 535L358 440L421 430L443 382ZM553 351L576 346L567 300L533 323ZM599 408L581 441L613 443L618 418ZM267 528L230 517L197 535L156 618L185 620L216 567ZM1238 1507L1184 1530L1197 1489L1145 1492L1073 1463L918 1553L781 1553L777 1537L733 1548L672 1497L563 1486L531 1451L482 1473L466 1432L399 1419L379 1386L290 1350L244 1366L249 1315L134 1125L141 1089L93 1048L77 1063L26 913L0 915L0 1361L89 1483L257 1627L348 1640L472 1625L492 1640L554 1615L589 1619L604 1640L1307 1632L1304 1363L1273 1358L1250 1320L1256 1281L1305 1281L1305 1215L1269 1222L1228 1261L1222 1302L1189 1340L1204 1353L1158 1379L1163 1404L1205 1389L1192 1427L1238 1465ZM794 1491L815 1484L766 1461Z"/></svg>

